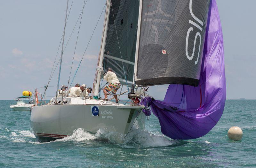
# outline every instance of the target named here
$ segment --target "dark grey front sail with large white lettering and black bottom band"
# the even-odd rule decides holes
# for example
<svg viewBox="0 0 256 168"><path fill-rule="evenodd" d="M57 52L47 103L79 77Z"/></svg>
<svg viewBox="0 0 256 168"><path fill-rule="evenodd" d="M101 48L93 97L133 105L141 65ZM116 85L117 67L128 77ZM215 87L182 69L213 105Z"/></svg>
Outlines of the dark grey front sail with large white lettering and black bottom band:
<svg viewBox="0 0 256 168"><path fill-rule="evenodd" d="M136 84L198 86L210 0L143 0Z"/></svg>

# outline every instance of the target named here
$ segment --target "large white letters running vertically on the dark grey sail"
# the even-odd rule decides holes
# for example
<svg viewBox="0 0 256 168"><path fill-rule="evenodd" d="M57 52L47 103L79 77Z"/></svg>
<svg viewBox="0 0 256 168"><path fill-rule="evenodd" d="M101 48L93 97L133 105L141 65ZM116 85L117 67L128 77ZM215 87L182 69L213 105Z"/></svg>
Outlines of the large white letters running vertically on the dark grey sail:
<svg viewBox="0 0 256 168"><path fill-rule="evenodd" d="M196 21L198 24L202 25L202 27L203 27L204 23L203 23L200 19L198 19L198 18L194 15L194 13L193 13L193 11L192 11L192 0L189 0L189 11L190 11L191 16L195 19L195 21ZM188 23L192 24L193 26L195 26L196 28L198 28L198 29L202 32L202 31L203 31L203 28L202 28L201 26L199 26L196 22L194 22L194 21L192 21L192 20L188 20ZM196 33L195 40L194 40L193 52L192 52L192 55L189 56L189 55L188 55L188 38L189 38L189 34L190 34L191 31L193 31L193 27L189 27L188 32L187 32L187 37L186 37L186 56L187 56L187 58L188 58L189 60L192 60L192 59L193 59L194 54L195 54L195 48L196 48L196 40L197 40L197 37L199 37L199 42L200 42L200 43L199 43L199 50L198 50L197 59L196 59L196 62L195 62L195 65L196 65L196 64L198 63L199 54L200 54L200 48L201 48L201 34L200 34L199 31Z"/></svg>

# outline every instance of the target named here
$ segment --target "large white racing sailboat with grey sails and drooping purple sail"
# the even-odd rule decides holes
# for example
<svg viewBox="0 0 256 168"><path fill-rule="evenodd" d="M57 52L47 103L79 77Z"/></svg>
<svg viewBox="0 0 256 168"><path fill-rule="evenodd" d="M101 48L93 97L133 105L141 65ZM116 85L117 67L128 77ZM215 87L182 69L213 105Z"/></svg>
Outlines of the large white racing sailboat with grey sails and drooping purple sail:
<svg viewBox="0 0 256 168"><path fill-rule="evenodd" d="M35 103L30 119L36 138L52 141L78 128L91 133L105 129L125 137L132 129L145 128L150 107L168 137L207 134L220 119L226 96L216 10L215 0L107 0L92 97L56 94L47 105ZM127 89L119 95L140 98L139 105L100 100L102 74L109 67ZM216 74L214 80L206 67ZM146 94L146 87L162 84L170 84L164 101Z"/></svg>

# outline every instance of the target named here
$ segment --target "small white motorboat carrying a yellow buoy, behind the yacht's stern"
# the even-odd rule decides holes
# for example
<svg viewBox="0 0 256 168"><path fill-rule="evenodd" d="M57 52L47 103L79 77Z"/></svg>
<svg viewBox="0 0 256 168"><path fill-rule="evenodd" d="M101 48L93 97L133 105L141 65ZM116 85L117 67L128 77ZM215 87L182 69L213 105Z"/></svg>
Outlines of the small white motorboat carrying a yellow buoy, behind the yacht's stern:
<svg viewBox="0 0 256 168"><path fill-rule="evenodd" d="M14 100L18 101L16 104L10 105L10 108L13 109L14 111L30 111L31 106L32 106L32 104L31 104L32 93L29 91L23 91L22 95L23 96L16 98L18 100L14 99ZM29 103L25 103L22 100L25 98L29 99Z"/></svg>

